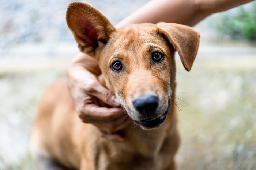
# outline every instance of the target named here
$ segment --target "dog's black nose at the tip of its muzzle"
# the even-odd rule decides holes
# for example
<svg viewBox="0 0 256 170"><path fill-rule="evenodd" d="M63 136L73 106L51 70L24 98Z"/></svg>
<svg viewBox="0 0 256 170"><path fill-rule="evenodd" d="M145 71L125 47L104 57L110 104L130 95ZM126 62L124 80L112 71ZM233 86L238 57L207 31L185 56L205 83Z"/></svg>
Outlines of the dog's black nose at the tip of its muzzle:
<svg viewBox="0 0 256 170"><path fill-rule="evenodd" d="M158 102L157 96L141 95L133 101L133 106L140 114L147 114L149 116L157 110Z"/></svg>

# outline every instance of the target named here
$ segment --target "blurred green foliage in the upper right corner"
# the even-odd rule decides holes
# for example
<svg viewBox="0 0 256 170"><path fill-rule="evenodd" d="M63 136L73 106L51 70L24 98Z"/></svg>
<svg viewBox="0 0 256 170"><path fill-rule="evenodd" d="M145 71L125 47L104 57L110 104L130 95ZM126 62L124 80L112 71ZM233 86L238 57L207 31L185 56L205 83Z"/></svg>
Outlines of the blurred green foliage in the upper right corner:
<svg viewBox="0 0 256 170"><path fill-rule="evenodd" d="M235 16L222 15L221 22L216 25L218 31L234 39L256 41L256 2L250 9L239 8Z"/></svg>

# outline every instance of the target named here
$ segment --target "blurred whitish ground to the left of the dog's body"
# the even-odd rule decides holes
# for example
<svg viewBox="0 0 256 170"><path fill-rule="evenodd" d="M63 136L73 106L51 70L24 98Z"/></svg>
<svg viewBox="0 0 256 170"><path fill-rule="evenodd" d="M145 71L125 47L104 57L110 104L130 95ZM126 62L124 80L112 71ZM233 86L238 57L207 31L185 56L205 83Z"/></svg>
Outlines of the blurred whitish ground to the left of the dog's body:
<svg viewBox="0 0 256 170"><path fill-rule="evenodd" d="M33 170L28 148L36 107L64 71L0 72L0 170Z"/></svg>

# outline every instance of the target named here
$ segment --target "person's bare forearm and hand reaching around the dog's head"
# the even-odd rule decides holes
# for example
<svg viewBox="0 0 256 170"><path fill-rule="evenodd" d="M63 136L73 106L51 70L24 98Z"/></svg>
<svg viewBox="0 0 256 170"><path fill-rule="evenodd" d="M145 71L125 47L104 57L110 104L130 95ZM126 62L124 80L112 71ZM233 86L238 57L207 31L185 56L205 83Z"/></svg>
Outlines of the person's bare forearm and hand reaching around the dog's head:
<svg viewBox="0 0 256 170"><path fill-rule="evenodd" d="M225 11L252 0L151 0L116 25L173 22L193 26L212 13ZM98 80L98 63L79 53L68 66L68 86L79 117L97 126L102 136L123 140L114 132L130 123L115 95ZM101 107L98 99L113 108Z"/></svg>

